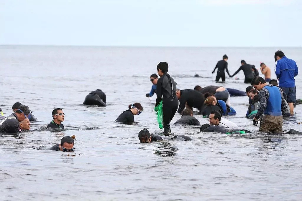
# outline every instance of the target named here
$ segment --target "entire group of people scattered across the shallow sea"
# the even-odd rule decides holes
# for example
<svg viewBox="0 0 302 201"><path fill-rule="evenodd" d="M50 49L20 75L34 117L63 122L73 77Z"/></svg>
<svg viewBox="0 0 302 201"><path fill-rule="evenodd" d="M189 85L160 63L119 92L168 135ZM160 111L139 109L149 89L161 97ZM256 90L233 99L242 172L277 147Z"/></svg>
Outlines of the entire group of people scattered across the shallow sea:
<svg viewBox="0 0 302 201"><path fill-rule="evenodd" d="M150 134L147 129L139 132L141 143L152 142L156 140L192 140L187 136L172 136L170 122L176 112L182 114L181 118L175 124L182 125L200 125L198 119L193 116L193 108L198 109L203 118L209 119L209 124L201 126L201 132L220 132L220 133L250 133L247 130L240 129L236 124L222 116L236 115L234 108L230 106L230 96L249 96L249 108L246 113L247 118L253 119L253 125L260 121L259 131L282 132L283 116L294 114L294 102L296 102L296 87L294 77L298 74L297 64L294 60L285 57L282 51L275 52L275 73L279 80L271 80L271 71L264 64L260 64L262 74L265 79L255 76L257 69L250 64L241 61L241 67L231 76L227 69L226 55L223 60L218 61L214 71L217 68L216 81L222 78L225 81L225 73L230 77L236 75L240 70L245 74L245 83L251 83L246 91L224 88L223 86L195 86L194 89L180 90L177 88L175 80L168 74L169 65L166 62L160 62L156 69L157 74L150 76L153 83L151 91L146 97L156 94L155 106L162 104L162 124L164 135ZM214 73L213 71L213 73ZM269 84L267 83L269 82ZM85 105L106 106L106 95L101 90L95 90L85 97ZM7 117L2 117L0 121L0 132L19 133L21 130L30 129L30 121L37 121L31 110L26 105L17 102L12 106L13 113ZM123 111L115 121L131 124L134 122L134 115L140 115L143 107L136 102L128 105L128 110ZM1 115L0 115L1 117ZM64 112L61 108L52 111L53 120L47 125L47 128L64 129ZM63 137L61 143L48 150L68 150L74 149L74 140L72 137ZM40 149L40 148L37 148ZM41 148L42 149L42 148Z"/></svg>

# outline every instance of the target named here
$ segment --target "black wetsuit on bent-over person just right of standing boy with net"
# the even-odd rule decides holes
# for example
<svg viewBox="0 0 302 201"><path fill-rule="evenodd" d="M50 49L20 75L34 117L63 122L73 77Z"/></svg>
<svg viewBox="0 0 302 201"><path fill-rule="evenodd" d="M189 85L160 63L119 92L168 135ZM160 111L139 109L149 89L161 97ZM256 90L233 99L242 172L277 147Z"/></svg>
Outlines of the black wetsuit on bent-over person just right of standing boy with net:
<svg viewBox="0 0 302 201"><path fill-rule="evenodd" d="M196 90L185 89L180 90L180 99L178 113L182 113L182 110L185 108L186 102L192 108L199 109L199 112L202 111L204 107L204 95Z"/></svg>

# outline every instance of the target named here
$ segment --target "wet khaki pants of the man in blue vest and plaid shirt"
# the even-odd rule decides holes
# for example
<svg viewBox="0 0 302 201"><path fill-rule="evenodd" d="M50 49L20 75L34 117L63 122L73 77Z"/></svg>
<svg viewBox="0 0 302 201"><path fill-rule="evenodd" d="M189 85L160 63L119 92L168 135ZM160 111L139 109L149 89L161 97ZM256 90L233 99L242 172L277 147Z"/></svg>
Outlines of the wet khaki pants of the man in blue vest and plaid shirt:
<svg viewBox="0 0 302 201"><path fill-rule="evenodd" d="M260 121L259 131L281 133L283 116L263 115Z"/></svg>

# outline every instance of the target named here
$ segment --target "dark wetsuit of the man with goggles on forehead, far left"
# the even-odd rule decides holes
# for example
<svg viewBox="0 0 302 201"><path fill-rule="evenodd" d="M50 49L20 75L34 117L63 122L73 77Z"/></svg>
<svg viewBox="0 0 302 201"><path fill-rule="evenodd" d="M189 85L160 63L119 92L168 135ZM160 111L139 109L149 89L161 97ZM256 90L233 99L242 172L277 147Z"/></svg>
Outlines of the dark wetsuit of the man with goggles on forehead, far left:
<svg viewBox="0 0 302 201"><path fill-rule="evenodd" d="M20 133L18 117L15 113L5 117L0 121L0 132L2 133Z"/></svg>

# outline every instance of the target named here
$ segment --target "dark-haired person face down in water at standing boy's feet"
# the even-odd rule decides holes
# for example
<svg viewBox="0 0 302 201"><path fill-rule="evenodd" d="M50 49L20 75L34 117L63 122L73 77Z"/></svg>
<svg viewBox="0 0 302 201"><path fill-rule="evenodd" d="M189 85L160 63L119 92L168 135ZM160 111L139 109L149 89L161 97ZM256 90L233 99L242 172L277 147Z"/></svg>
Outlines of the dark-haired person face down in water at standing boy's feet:
<svg viewBox="0 0 302 201"><path fill-rule="evenodd" d="M174 137L150 134L149 131L144 128L138 133L140 143L154 142L156 140L193 140L192 138L185 135L175 135Z"/></svg>

